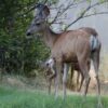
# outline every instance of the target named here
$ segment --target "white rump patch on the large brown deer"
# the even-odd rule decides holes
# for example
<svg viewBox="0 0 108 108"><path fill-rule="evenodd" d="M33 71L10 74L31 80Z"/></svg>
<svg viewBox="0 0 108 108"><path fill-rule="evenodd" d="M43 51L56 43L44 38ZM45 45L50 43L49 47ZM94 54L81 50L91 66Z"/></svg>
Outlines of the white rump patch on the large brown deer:
<svg viewBox="0 0 108 108"><path fill-rule="evenodd" d="M90 43L91 43L91 50L92 51L94 51L98 48L98 39L96 37L91 36Z"/></svg>

